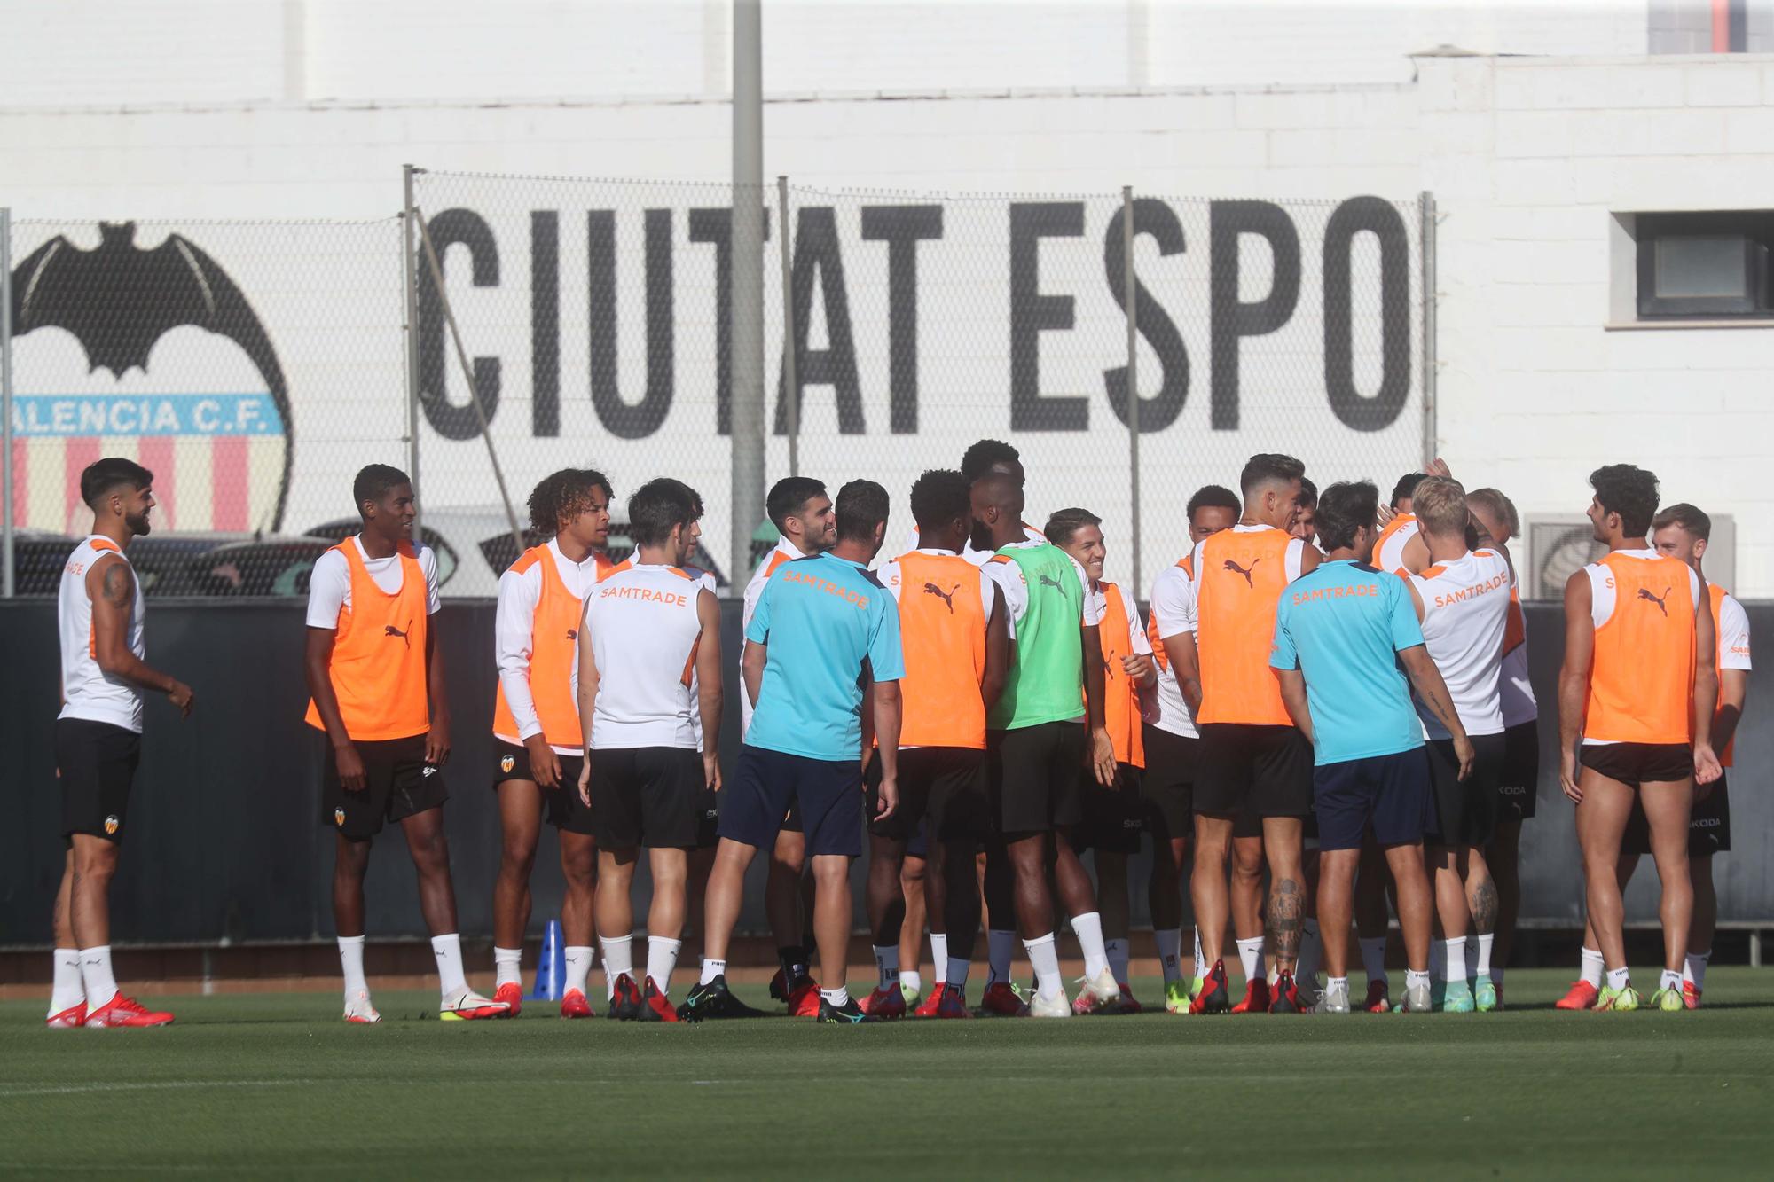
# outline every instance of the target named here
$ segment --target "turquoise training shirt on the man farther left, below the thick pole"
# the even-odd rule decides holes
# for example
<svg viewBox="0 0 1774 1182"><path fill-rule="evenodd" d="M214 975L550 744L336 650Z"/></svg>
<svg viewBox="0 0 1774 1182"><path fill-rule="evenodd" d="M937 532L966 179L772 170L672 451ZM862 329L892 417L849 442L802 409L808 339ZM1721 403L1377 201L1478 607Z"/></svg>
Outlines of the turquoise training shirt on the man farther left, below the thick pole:
<svg viewBox="0 0 1774 1182"><path fill-rule="evenodd" d="M864 662L876 682L905 676L899 609L887 587L832 554L782 563L745 639L768 650L745 742L809 760L860 760Z"/></svg>

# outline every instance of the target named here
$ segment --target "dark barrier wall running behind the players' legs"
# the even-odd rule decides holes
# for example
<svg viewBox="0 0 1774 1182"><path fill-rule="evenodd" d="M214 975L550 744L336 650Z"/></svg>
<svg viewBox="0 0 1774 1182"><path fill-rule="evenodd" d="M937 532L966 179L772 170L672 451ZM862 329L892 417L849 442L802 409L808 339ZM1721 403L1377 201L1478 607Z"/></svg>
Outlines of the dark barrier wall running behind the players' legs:
<svg viewBox="0 0 1774 1182"><path fill-rule="evenodd" d="M122 870L114 891L119 942L213 942L330 937L334 841L319 823L323 738L302 724L303 609L289 602L154 603L149 660L186 680L197 712L181 722L163 699L147 705L142 770L131 797ZM1774 605L1751 605L1751 626L1774 635ZM1558 788L1558 680L1561 621L1556 605L1527 609L1533 676L1542 701L1540 815L1522 836L1524 919L1581 923L1582 873L1572 806ZM454 753L451 864L461 930L491 932L491 884L498 866L493 808L493 605L449 603L440 635L451 676ZM724 603L727 667L738 667L738 603ZM0 605L0 944L48 944L50 907L62 871L60 813L51 729L57 712L55 605ZM738 753L736 676L729 682L722 753ZM1774 765L1774 671L1753 674L1747 722L1731 774L1733 852L1717 859L1723 921L1774 921L1767 768ZM546 834L546 827L545 827ZM378 841L369 877L373 937L422 935L412 864L397 834ZM644 866L644 863L642 863ZM765 930L761 870L754 868L742 925ZM860 873L855 882L860 916ZM1142 868L1135 871L1142 875ZM1142 882L1141 877L1134 879ZM637 891L642 894L644 891ZM532 926L559 914L561 871L553 836L543 838L534 877ZM1144 889L1135 891L1144 923ZM644 914L640 902L637 914ZM1655 918L1655 873L1646 866L1629 894L1629 916Z"/></svg>

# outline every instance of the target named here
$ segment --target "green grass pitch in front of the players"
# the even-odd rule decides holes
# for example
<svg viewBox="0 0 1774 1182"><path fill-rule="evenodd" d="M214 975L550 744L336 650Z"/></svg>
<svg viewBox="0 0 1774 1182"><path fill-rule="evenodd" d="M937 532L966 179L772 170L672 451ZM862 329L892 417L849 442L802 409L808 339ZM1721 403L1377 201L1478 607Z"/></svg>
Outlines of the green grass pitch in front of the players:
<svg viewBox="0 0 1774 1182"><path fill-rule="evenodd" d="M561 1022L543 1003L445 1024L435 994L383 994L383 1024L353 1028L330 994L273 994L169 997L167 1029L48 1031L41 1003L14 1001L0 1175L1767 1168L1774 973L1714 969L1708 1006L1671 1015L1559 1013L1566 980L1511 973L1511 1008L1490 1015L876 1028Z"/></svg>

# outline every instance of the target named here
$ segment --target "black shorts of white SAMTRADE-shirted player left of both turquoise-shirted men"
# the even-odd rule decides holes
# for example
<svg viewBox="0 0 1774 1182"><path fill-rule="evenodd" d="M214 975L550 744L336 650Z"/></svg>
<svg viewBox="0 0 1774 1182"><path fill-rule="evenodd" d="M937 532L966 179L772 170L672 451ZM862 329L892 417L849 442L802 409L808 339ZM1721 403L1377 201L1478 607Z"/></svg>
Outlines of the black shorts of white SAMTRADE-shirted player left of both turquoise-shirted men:
<svg viewBox="0 0 1774 1182"><path fill-rule="evenodd" d="M708 786L699 751L594 747L587 758L593 836L601 848L695 848Z"/></svg>

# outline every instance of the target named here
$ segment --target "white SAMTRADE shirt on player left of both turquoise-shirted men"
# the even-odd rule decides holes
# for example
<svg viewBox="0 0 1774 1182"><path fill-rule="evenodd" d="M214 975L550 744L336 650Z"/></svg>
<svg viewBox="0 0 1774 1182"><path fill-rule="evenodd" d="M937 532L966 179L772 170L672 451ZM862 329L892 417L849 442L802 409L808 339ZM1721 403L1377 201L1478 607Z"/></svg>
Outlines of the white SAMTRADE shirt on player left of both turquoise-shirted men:
<svg viewBox="0 0 1774 1182"><path fill-rule="evenodd" d="M697 747L690 685L703 637L703 582L676 566L624 564L585 600L598 701L591 749Z"/></svg>

